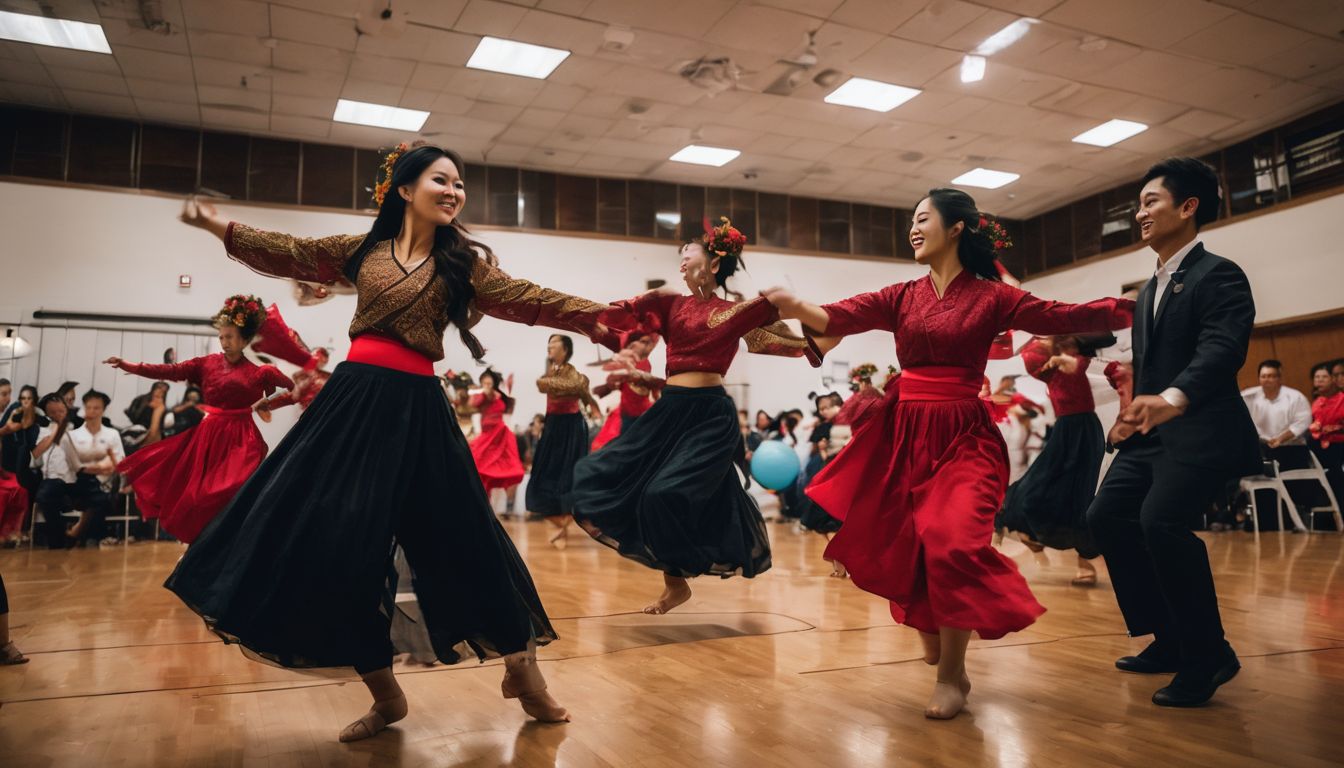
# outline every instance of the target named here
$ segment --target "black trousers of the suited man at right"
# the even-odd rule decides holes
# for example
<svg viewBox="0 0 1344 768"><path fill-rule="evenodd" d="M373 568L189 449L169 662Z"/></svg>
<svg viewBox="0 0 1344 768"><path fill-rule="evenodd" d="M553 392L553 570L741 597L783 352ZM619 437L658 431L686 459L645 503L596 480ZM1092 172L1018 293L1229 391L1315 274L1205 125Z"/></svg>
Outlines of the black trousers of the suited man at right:
<svg viewBox="0 0 1344 768"><path fill-rule="evenodd" d="M1227 475L1180 464L1160 444L1121 452L1087 522L1132 636L1179 643L1184 659L1226 643L1208 550L1195 535Z"/></svg>

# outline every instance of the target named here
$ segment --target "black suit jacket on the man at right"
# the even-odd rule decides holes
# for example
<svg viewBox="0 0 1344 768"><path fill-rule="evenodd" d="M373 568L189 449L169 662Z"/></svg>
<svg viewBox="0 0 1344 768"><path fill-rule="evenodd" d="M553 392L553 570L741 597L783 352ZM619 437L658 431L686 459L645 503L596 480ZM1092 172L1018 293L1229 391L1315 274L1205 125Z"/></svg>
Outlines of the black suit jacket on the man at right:
<svg viewBox="0 0 1344 768"><path fill-rule="evenodd" d="M1134 394L1177 387L1189 398L1184 414L1152 434L1173 461L1253 475L1261 469L1259 436L1236 386L1255 323L1246 273L1199 243L1167 284L1153 317L1157 280L1134 308ZM1120 444L1150 445L1134 434Z"/></svg>

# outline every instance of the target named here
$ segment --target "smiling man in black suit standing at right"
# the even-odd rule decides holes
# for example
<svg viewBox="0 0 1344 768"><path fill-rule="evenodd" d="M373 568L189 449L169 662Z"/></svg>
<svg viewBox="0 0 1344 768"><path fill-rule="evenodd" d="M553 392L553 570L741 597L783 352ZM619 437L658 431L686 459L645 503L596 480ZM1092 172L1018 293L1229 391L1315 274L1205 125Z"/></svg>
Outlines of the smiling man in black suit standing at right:
<svg viewBox="0 0 1344 768"><path fill-rule="evenodd" d="M1193 527L1228 479L1261 468L1236 386L1255 304L1241 268L1199 242L1218 217L1212 168L1164 160L1144 176L1138 202L1134 218L1157 269L1134 309L1134 399L1107 436L1120 456L1087 521L1130 636L1154 636L1116 666L1176 673L1153 703L1199 706L1241 670Z"/></svg>

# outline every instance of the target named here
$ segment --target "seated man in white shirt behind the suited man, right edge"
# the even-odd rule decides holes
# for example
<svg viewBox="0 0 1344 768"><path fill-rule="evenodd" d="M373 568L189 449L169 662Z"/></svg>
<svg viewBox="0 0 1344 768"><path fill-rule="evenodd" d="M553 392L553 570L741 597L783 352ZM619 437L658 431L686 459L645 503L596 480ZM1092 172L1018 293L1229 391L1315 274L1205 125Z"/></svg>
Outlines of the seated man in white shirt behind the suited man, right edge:
<svg viewBox="0 0 1344 768"><path fill-rule="evenodd" d="M1278 461L1279 469L1301 469L1310 465L1309 451L1306 448L1306 432L1312 425L1312 405L1306 395L1293 387L1284 386L1284 363L1270 359L1263 360L1258 369L1259 386L1253 386L1242 391L1246 408L1251 412L1251 421L1261 438L1261 452L1267 461ZM1271 469L1266 469L1271 471ZM1306 484L1289 488L1289 494L1297 491L1297 499L1289 503L1305 506L1310 494ZM1261 527L1274 527L1271 521L1278 515L1269 515L1278 503L1273 491L1258 491L1255 495L1255 508L1261 514Z"/></svg>

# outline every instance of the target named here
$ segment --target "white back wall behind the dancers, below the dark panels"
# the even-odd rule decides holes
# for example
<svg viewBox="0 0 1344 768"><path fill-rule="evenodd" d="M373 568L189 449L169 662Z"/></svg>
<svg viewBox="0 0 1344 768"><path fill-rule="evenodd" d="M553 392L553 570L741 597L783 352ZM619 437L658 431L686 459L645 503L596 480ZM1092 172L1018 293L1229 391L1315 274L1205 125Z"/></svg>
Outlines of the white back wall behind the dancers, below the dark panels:
<svg viewBox="0 0 1344 768"><path fill-rule="evenodd" d="M309 344L333 350L333 362L344 358L349 346L347 328L353 313L353 297L339 296L317 307L298 307L286 281L263 277L226 257L211 235L176 221L179 208L179 200L156 195L0 182L0 227L5 233L0 246L0 325L23 323L39 308L204 317L212 315L226 296L249 292L280 304L281 313ZM368 217L353 213L227 204L220 210L253 226L298 235L360 233L371 222ZM496 250L507 272L594 300L634 296L644 291L649 278L680 284L677 247L672 243L484 229L477 235ZM922 268L910 264L804 257L754 249L749 249L746 262L750 273L735 278L739 291L750 295L767 285L792 284L817 301L843 299L923 273ZM181 273L192 276L191 289L177 288ZM32 328L20 328L20 332L30 342L39 340ZM476 332L489 350L488 362L500 371L515 374L517 422L523 424L530 414L542 412L544 398L536 393L532 381L542 373L548 331L487 317ZM448 358L435 366L437 371L449 367L466 369L473 374L478 371L456 332L450 331L446 342ZM595 359L593 344L582 339L575 342L575 362ZM63 348L43 350L43 356L66 358L67 352ZM157 362L159 351L149 359ZM831 359L849 363L871 360L886 366L895 360L895 352L890 336L871 334L845 340ZM653 358L655 370L661 369L663 362L660 346ZM598 369L585 370L594 381L602 377ZM821 373L802 360L747 355L745 350L734 363L730 382L750 385L745 406L770 412L804 408L806 393L823 386ZM42 383L46 386L47 382ZM129 402L129 398L126 402L121 399L118 397L110 413L120 416ZM293 414L282 414L263 428L273 445L293 418Z"/></svg>

